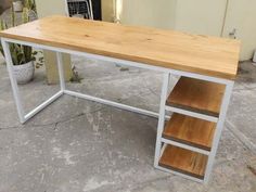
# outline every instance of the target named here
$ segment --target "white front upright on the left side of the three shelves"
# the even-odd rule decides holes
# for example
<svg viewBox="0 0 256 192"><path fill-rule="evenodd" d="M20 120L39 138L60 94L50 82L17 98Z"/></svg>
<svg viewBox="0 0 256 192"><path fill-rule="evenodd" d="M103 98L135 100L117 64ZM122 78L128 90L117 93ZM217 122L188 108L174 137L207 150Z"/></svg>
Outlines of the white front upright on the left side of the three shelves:
<svg viewBox="0 0 256 192"><path fill-rule="evenodd" d="M162 94L161 94L161 106L159 106L159 117L158 117L158 126L157 126L157 137L156 137L156 144L155 144L155 159L154 166L158 167L158 161L161 156L161 145L162 145L162 133L164 130L165 125L165 103L168 94L168 85L169 85L169 73L164 74L164 81L162 87Z"/></svg>

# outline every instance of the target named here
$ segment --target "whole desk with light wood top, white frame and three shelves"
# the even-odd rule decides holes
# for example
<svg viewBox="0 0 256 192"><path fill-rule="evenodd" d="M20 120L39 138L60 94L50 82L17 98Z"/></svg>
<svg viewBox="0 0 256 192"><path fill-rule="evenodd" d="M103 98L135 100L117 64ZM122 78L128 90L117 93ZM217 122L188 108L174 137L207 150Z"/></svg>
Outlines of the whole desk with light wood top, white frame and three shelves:
<svg viewBox="0 0 256 192"><path fill-rule="evenodd" d="M21 25L1 31L0 37L21 123L64 93L154 116L158 118L154 166L199 182L208 181L236 75L239 41L63 16ZM61 90L26 115L13 75L10 42L57 54ZM61 53L163 72L159 113L67 90ZM168 93L170 75L181 78ZM166 118L167 112L174 115Z"/></svg>

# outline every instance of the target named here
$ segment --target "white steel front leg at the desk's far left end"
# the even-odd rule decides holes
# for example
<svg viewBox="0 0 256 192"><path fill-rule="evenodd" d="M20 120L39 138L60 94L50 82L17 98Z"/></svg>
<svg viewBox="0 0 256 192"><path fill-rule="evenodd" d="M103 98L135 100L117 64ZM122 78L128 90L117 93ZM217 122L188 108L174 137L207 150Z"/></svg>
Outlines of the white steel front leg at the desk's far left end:
<svg viewBox="0 0 256 192"><path fill-rule="evenodd" d="M14 97L14 100L16 103L18 118L20 118L20 121L22 124L24 124L25 123L25 118L24 118L25 113L24 113L24 108L23 108L23 104L22 104L22 100L21 100L21 94L20 94L18 87L17 87L17 80L13 74L13 62L12 62L12 55L10 52L10 44L5 40L1 40L1 41L2 41L2 48L3 48L3 52L4 52L4 57L5 57L5 62L7 62L7 67L8 67L10 80L12 84L13 97Z"/></svg>

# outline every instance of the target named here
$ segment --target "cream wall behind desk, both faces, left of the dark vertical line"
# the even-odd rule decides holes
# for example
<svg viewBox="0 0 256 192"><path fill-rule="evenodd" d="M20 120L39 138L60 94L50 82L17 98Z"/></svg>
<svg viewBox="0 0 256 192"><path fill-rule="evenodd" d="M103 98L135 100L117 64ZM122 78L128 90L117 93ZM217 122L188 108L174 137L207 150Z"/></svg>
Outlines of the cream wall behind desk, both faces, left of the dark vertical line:
<svg viewBox="0 0 256 192"><path fill-rule="evenodd" d="M225 0L123 0L121 23L219 36Z"/></svg>

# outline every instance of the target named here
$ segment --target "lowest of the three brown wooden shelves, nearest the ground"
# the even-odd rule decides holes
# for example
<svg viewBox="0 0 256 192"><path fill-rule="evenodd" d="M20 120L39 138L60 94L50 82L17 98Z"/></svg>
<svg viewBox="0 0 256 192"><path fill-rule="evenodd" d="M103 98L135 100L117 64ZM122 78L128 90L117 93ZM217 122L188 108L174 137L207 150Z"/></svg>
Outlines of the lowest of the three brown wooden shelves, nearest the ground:
<svg viewBox="0 0 256 192"><path fill-rule="evenodd" d="M206 155L167 145L161 157L159 166L204 179L208 157Z"/></svg>

